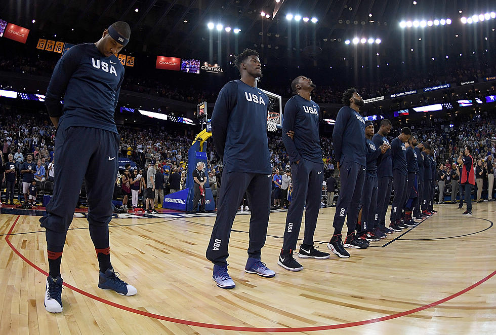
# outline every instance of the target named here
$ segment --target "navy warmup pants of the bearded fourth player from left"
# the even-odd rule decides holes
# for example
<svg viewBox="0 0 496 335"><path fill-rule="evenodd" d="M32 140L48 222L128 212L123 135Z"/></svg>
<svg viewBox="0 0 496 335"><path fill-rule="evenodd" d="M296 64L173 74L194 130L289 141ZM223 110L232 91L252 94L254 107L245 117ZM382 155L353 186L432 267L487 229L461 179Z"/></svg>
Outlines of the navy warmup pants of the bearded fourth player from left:
<svg viewBox="0 0 496 335"><path fill-rule="evenodd" d="M355 162L344 163L340 166L339 180L341 192L336 203L333 227L342 230L348 214L348 232L354 232L365 181L365 167Z"/></svg>

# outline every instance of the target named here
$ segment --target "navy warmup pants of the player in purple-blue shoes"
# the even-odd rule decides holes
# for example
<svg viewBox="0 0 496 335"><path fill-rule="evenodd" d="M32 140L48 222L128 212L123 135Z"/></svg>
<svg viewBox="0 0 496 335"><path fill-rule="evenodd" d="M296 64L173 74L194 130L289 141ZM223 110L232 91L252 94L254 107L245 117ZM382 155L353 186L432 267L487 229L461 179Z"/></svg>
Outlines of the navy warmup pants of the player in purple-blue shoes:
<svg viewBox="0 0 496 335"><path fill-rule="evenodd" d="M260 259L269 224L272 174L222 172L222 188L217 203L217 217L206 258L220 266L227 265L231 228L239 203L246 192L252 212L248 256ZM291 205L293 206L293 204ZM290 206L290 207L291 207Z"/></svg>

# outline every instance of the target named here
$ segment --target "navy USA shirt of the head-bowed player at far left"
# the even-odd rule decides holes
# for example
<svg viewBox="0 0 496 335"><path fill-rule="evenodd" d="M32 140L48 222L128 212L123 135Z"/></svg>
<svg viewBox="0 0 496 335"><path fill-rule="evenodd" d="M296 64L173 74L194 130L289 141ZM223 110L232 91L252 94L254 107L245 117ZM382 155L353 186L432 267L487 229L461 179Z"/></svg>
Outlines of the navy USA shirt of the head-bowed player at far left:
<svg viewBox="0 0 496 335"><path fill-rule="evenodd" d="M105 57L93 43L73 46L57 62L45 103L59 110L59 125L92 127L117 133L114 109L119 99L124 67L114 55Z"/></svg>

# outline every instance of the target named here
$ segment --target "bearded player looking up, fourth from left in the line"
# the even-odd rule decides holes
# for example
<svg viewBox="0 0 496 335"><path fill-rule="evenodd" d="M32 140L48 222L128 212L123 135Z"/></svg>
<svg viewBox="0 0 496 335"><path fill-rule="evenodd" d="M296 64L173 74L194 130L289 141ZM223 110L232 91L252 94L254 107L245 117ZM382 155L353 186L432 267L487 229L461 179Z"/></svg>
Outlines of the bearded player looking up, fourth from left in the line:
<svg viewBox="0 0 496 335"><path fill-rule="evenodd" d="M348 89L343 94L344 107L338 111L336 125L333 131L334 152L336 165L340 171L341 192L336 204L334 215L333 237L327 247L338 257L348 258L350 254L344 246L364 249L368 242L355 236L355 226L358 218L360 199L362 197L363 182L365 181L366 147L365 147L365 120L358 114L363 106L363 99L355 90ZM341 231L348 214L348 232L343 245Z"/></svg>

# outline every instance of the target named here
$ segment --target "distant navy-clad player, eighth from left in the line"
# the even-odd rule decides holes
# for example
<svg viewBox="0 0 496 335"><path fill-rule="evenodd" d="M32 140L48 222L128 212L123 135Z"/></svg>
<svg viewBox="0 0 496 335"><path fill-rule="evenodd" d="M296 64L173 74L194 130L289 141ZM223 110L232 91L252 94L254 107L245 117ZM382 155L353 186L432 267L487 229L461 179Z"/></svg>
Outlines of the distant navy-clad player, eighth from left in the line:
<svg viewBox="0 0 496 335"><path fill-rule="evenodd" d="M412 211L418 207L419 200L419 162L417 161L417 153L415 147L417 146L417 138L411 135L408 139L408 147L406 148L406 166L407 166L407 187L404 205L403 224L406 227L415 227L416 218L412 218ZM420 219L422 221L422 219Z"/></svg>

